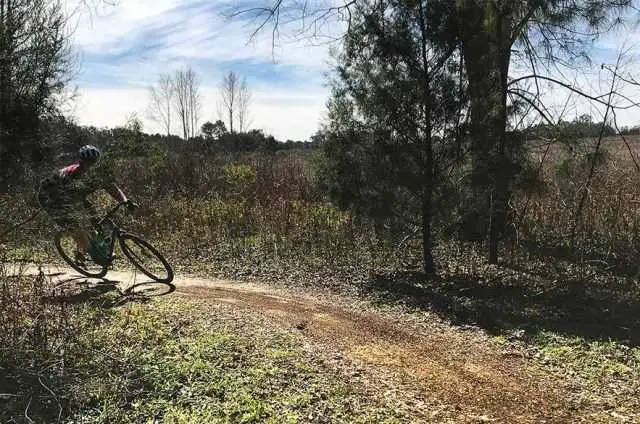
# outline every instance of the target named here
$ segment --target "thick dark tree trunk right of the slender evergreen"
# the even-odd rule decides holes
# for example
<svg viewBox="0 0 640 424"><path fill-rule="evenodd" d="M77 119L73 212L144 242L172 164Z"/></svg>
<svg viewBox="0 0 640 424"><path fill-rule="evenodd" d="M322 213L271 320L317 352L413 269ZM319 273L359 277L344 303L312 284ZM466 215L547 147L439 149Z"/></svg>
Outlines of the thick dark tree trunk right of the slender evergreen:
<svg viewBox="0 0 640 424"><path fill-rule="evenodd" d="M511 52L509 1L458 3L462 52L469 80L472 186L477 216L487 228L489 263L497 263L509 199L507 77ZM488 221L488 222L487 222Z"/></svg>

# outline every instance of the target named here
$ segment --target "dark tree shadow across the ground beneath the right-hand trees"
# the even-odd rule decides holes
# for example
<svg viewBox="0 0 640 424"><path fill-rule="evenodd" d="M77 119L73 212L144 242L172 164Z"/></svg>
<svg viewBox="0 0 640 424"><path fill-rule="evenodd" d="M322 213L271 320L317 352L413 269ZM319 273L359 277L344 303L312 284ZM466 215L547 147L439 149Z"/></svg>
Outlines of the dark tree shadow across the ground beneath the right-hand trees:
<svg viewBox="0 0 640 424"><path fill-rule="evenodd" d="M477 325L496 335L551 330L640 345L638 283L616 279L608 284L596 276L548 279L513 269L498 274L438 279L420 273L376 275L363 290L379 302L430 310L454 324Z"/></svg>

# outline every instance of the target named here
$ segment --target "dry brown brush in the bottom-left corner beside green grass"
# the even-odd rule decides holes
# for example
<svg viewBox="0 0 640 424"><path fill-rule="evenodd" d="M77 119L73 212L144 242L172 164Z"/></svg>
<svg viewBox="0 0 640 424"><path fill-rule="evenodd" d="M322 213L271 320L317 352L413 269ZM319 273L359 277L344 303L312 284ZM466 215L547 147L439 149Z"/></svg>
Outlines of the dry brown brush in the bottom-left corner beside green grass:
<svg viewBox="0 0 640 424"><path fill-rule="evenodd" d="M0 422L54 422L67 407L58 388L73 377L87 320L73 305L46 302L54 293L43 273L9 269L0 258Z"/></svg>

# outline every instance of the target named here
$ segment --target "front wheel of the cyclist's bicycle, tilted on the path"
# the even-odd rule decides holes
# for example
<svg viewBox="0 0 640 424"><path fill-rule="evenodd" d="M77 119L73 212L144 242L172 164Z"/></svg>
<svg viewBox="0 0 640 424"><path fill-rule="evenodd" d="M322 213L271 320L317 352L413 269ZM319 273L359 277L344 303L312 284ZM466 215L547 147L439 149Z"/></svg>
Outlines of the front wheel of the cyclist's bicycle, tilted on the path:
<svg viewBox="0 0 640 424"><path fill-rule="evenodd" d="M159 283L173 281L173 269L169 262L149 242L133 234L120 236L122 253L144 275Z"/></svg>

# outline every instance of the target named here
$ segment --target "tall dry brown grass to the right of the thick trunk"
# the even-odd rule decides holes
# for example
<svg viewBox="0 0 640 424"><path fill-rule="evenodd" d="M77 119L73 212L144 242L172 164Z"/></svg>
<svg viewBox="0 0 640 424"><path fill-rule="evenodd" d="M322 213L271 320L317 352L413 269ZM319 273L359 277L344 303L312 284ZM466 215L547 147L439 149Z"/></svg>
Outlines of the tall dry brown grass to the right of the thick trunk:
<svg viewBox="0 0 640 424"><path fill-rule="evenodd" d="M596 140L567 149L536 152L544 159L544 190L520 195L518 234L536 253L599 262L608 269L637 272L640 254L640 139L605 139L590 184ZM580 204L584 196L582 210ZM580 212L579 212L580 211Z"/></svg>

